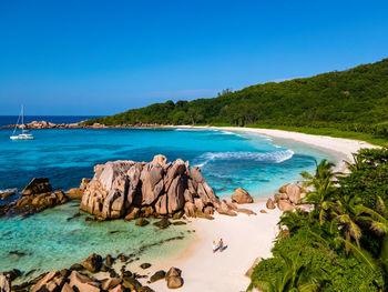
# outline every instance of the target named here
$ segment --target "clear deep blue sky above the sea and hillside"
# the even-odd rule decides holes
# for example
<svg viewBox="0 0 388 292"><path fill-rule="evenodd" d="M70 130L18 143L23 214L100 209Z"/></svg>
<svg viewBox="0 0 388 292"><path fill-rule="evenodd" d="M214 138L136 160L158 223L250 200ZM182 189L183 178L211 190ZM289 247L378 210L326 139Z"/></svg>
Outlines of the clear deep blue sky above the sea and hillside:
<svg viewBox="0 0 388 292"><path fill-rule="evenodd" d="M0 0L0 114L112 114L387 57L387 1Z"/></svg>

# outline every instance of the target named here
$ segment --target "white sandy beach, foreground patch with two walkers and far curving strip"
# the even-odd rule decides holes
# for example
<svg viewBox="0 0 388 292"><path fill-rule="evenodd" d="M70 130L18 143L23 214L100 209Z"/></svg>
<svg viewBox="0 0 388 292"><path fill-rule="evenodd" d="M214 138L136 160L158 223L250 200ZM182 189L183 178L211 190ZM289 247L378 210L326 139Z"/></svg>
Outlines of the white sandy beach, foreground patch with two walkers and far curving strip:
<svg viewBox="0 0 388 292"><path fill-rule="evenodd" d="M247 128L211 128L226 131L239 131L264 134L273 138L294 140L314 148L336 153L341 159L351 161L351 153L360 148L374 145L355 140L310 135L280 130L247 129ZM280 187L280 185L278 185ZM270 194L268 194L269 197ZM178 291L245 291L249 279L244 275L256 258L270 256L273 241L277 233L277 222L282 212L278 209L267 210L265 199L256 199L255 203L243 205L255 211L257 215L239 213L237 217L215 215L215 220L193 220L196 240L184 254L170 262L154 265L151 274L160 269L176 266L182 269L184 285ZM268 213L259 213L261 209ZM213 240L223 239L227 249L213 254ZM169 291L164 280L150 284L155 291Z"/></svg>

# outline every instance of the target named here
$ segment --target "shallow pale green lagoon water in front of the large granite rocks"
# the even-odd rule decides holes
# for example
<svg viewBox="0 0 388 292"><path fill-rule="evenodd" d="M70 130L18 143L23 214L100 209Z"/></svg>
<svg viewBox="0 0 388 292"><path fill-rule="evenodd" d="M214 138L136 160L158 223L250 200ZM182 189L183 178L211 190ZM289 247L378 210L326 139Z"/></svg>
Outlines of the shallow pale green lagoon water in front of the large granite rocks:
<svg viewBox="0 0 388 292"><path fill-rule="evenodd" d="M73 201L24 219L0 219L0 271L35 270L31 276L37 276L80 263L92 252L102 256L134 253L141 258L133 262L139 266L182 252L194 236L190 223L160 230L152 223L136 226L134 221L85 221L85 213L70 220L78 210ZM10 251L25 255L10 255Z"/></svg>

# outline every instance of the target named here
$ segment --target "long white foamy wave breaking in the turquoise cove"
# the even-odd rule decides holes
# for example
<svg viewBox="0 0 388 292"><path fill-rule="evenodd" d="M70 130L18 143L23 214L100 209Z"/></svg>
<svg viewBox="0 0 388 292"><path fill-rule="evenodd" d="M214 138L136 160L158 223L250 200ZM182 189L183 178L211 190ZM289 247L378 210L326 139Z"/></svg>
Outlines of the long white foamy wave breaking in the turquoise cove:
<svg viewBox="0 0 388 292"><path fill-rule="evenodd" d="M198 157L198 160L202 161L196 165L202 168L211 161L215 160L233 160L233 159L243 159L257 162L273 162L280 163L290 159L294 155L293 150L285 151L275 151L275 152L248 152L248 151L238 151L238 152L206 152Z"/></svg>

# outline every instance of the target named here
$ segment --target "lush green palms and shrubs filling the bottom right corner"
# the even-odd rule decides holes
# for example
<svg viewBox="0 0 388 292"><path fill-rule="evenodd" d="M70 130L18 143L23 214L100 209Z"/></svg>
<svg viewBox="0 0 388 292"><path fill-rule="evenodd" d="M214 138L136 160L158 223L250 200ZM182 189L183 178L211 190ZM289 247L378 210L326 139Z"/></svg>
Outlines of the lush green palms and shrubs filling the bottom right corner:
<svg viewBox="0 0 388 292"><path fill-rule="evenodd" d="M323 160L303 172L310 212L284 212L272 252L248 290L386 291L388 281L388 149L361 149L350 173Z"/></svg>

